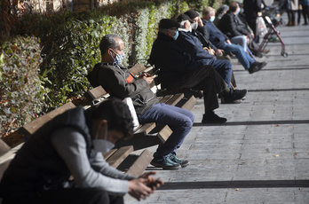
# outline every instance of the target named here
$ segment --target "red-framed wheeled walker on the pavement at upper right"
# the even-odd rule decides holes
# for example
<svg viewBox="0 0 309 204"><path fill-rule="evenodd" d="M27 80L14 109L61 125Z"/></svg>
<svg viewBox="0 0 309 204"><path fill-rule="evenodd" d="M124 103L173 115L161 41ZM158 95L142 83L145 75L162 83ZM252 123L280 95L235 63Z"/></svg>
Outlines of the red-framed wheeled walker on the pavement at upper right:
<svg viewBox="0 0 309 204"><path fill-rule="evenodd" d="M266 12L263 13L264 19L266 22L266 27L268 27L267 33L263 37L263 42L260 43L258 51L264 51L267 43L269 42L275 42L279 40L281 42L281 56L284 58L287 58L289 56L289 53L285 51L285 44L283 43L280 32L275 28L280 25L282 25L282 19L281 14L279 12L279 8L274 8L273 11L271 9L268 9ZM270 18L270 17L272 18ZM273 37L273 35L276 35L276 37Z"/></svg>

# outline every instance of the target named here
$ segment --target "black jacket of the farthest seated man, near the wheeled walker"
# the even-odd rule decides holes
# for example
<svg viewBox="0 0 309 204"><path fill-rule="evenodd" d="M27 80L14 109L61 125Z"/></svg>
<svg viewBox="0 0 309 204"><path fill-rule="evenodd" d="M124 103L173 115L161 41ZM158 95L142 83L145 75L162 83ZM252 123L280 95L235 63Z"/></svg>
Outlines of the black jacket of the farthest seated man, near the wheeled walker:
<svg viewBox="0 0 309 204"><path fill-rule="evenodd" d="M229 38L238 35L250 35L250 32L241 25L241 20L239 20L231 11L227 11L218 22L218 28Z"/></svg>

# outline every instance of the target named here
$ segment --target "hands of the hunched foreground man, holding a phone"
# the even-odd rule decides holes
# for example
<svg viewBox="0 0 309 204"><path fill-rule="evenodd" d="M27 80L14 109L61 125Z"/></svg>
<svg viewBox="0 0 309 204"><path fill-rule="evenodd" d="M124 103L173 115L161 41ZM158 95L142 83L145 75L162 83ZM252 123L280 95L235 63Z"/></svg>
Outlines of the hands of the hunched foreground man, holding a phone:
<svg viewBox="0 0 309 204"><path fill-rule="evenodd" d="M150 177L155 172L148 172L142 176L129 181L129 194L137 200L146 199L151 193L155 192L155 189L163 184L161 180Z"/></svg>

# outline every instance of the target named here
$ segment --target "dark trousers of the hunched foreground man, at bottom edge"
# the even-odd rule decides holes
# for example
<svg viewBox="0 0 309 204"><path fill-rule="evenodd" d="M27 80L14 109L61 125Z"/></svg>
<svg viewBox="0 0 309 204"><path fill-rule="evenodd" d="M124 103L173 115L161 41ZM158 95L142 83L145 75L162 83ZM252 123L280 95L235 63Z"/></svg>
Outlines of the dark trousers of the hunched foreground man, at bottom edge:
<svg viewBox="0 0 309 204"><path fill-rule="evenodd" d="M9 201L4 204L123 204L123 196L109 195L100 188L59 188L39 193L29 200Z"/></svg>

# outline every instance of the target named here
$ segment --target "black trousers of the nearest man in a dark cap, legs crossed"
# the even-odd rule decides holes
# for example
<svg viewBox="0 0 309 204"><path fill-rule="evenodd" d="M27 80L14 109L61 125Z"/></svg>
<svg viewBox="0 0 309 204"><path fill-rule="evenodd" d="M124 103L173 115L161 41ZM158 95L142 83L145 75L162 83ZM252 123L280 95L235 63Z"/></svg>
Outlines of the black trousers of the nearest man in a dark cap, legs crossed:
<svg viewBox="0 0 309 204"><path fill-rule="evenodd" d="M186 73L173 82L168 90L194 89L202 90L205 113L218 108L217 94L226 88L226 82L221 75L211 66L203 66L192 72Z"/></svg>

